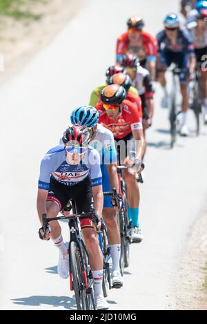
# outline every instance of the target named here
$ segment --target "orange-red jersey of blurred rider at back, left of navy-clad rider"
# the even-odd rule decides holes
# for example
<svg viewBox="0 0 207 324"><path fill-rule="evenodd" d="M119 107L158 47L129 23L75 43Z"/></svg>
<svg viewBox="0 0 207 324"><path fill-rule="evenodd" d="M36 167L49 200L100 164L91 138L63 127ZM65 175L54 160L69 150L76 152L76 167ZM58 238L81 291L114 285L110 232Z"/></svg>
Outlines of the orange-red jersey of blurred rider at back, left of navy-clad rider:
<svg viewBox="0 0 207 324"><path fill-rule="evenodd" d="M121 59L122 55L127 53L135 54L139 57L139 51L144 51L147 61L155 61L157 57L157 39L149 32L142 30L141 32L141 46L136 48L130 48L130 42L128 39L128 32L124 32L117 39L117 61Z"/></svg>

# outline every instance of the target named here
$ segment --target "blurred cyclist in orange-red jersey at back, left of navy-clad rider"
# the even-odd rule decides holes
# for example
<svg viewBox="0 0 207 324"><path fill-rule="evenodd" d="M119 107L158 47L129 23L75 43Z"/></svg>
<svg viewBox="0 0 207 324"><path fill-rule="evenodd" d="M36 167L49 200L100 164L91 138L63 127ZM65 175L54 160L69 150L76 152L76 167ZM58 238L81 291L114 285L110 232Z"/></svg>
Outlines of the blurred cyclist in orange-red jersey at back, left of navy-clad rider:
<svg viewBox="0 0 207 324"><path fill-rule="evenodd" d="M141 66L146 67L152 79L155 79L157 39L144 31L144 20L132 16L127 21L128 31L124 32L117 40L117 63L127 53L139 57Z"/></svg>

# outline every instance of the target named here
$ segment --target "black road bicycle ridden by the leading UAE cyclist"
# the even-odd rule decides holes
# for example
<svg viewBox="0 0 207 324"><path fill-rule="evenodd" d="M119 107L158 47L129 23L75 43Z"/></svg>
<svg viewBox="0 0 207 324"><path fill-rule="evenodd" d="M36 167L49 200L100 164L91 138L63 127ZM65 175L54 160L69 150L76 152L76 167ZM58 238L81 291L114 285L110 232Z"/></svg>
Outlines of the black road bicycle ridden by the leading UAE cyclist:
<svg viewBox="0 0 207 324"><path fill-rule="evenodd" d="M49 222L55 220L69 220L68 227L70 231L70 242L68 244L69 267L70 267L70 290L75 292L75 299L78 310L95 310L95 301L93 297L92 285L94 283L92 271L90 269L88 251L83 242L81 234L80 220L83 218L92 218L93 223L97 226L99 220L95 210L89 213L77 213L75 201L71 200L72 215L59 216L56 218L47 218L44 213L43 231ZM65 209L70 211L70 209Z"/></svg>

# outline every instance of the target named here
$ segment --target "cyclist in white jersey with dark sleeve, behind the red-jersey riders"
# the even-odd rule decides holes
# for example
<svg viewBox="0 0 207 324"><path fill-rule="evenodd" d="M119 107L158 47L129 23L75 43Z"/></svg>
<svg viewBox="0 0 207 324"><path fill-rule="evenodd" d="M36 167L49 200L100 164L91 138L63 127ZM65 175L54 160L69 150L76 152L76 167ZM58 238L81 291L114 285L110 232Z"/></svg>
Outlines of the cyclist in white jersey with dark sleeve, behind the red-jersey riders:
<svg viewBox="0 0 207 324"><path fill-rule="evenodd" d="M138 90L141 97L141 106L143 113L143 131L144 131L144 147L143 156L146 153L146 129L152 125L152 117L154 114L154 99L155 93L152 85L150 73L146 68L139 65L139 59L136 55L127 54L121 59L121 65L124 66L126 73L132 79L132 85Z"/></svg>

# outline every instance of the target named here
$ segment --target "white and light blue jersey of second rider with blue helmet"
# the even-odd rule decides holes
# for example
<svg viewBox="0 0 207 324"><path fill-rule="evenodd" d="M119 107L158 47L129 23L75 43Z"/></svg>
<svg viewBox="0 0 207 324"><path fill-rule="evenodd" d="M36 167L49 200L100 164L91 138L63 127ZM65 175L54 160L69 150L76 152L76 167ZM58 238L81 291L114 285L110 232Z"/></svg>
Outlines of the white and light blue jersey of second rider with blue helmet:
<svg viewBox="0 0 207 324"><path fill-rule="evenodd" d="M99 152L101 164L117 163L114 135L106 127L97 124L97 129L92 136L90 146Z"/></svg>

